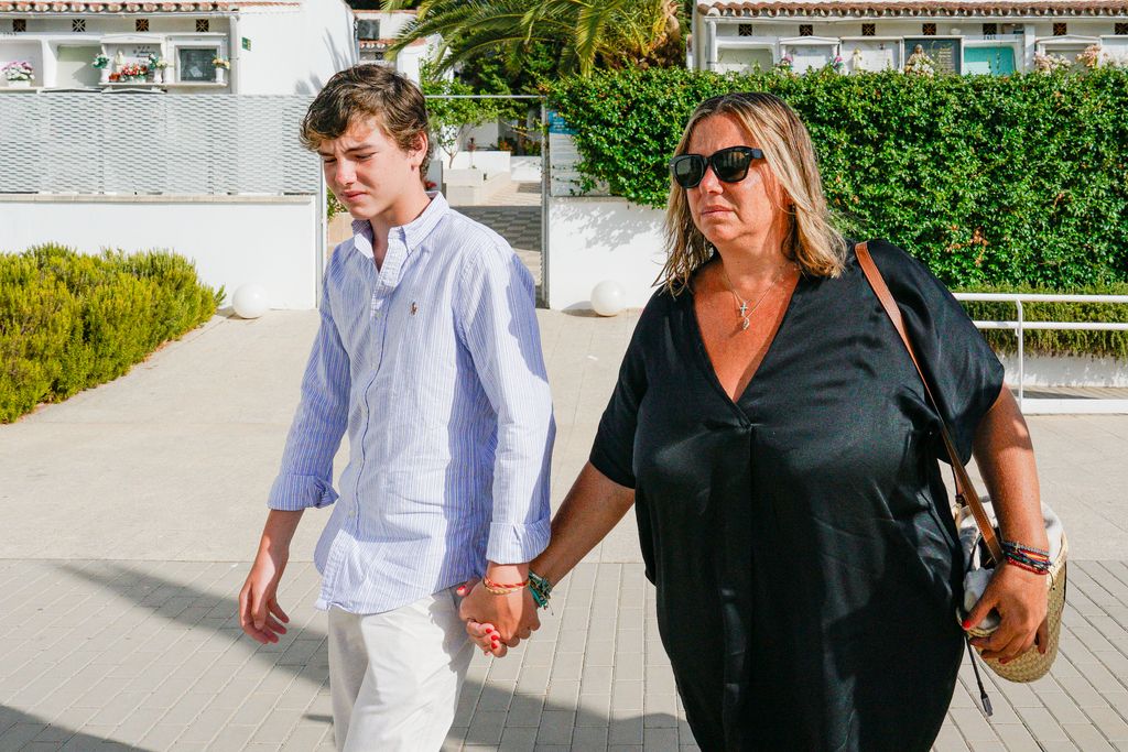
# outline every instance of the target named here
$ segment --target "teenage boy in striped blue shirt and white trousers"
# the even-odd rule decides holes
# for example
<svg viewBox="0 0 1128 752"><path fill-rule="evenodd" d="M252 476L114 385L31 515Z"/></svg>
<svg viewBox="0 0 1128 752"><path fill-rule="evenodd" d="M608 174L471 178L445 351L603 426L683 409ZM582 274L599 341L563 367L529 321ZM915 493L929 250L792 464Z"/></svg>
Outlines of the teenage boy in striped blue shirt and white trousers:
<svg viewBox="0 0 1128 752"><path fill-rule="evenodd" d="M276 591L293 532L302 510L336 502L315 561L337 747L438 750L473 649L457 586L491 581L470 595L497 611L499 639L536 619L527 589L504 587L548 542L555 427L534 285L505 240L425 191L426 107L403 76L337 73L301 139L355 236L325 273L240 621L261 643L285 632Z"/></svg>

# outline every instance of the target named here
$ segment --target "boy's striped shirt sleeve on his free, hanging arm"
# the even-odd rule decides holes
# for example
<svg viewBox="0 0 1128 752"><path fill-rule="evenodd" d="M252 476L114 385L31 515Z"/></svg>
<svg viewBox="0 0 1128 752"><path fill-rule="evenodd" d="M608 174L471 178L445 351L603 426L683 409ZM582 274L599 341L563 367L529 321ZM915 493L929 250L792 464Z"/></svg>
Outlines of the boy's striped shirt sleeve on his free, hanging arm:
<svg viewBox="0 0 1128 752"><path fill-rule="evenodd" d="M272 510L327 506L337 499L333 458L347 425L350 375L349 355L333 320L328 278L326 274L321 320L301 381L301 401L266 501Z"/></svg>

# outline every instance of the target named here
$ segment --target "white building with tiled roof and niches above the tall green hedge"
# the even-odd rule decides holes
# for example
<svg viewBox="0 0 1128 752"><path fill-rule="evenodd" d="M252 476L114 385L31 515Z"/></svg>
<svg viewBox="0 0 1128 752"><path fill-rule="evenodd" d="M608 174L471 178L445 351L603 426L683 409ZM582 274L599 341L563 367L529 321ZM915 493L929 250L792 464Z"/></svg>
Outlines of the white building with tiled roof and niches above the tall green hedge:
<svg viewBox="0 0 1128 752"><path fill-rule="evenodd" d="M1070 62L1099 45L1128 63L1123 0L814 0L703 2L693 16L693 67L719 72L793 70L834 64L902 70L917 45L957 73L1034 69L1036 54Z"/></svg>

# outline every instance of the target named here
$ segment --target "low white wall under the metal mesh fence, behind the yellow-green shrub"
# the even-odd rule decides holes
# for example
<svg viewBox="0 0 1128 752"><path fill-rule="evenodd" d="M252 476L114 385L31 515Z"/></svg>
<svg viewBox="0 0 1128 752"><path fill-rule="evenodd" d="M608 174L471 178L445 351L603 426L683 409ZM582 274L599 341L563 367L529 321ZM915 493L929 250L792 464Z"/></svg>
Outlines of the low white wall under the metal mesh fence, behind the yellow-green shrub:
<svg viewBox="0 0 1128 752"><path fill-rule="evenodd" d="M235 290L253 282L271 308L316 306L314 196L12 196L0 195L0 253L44 242L85 254L165 248L191 258L200 277Z"/></svg>

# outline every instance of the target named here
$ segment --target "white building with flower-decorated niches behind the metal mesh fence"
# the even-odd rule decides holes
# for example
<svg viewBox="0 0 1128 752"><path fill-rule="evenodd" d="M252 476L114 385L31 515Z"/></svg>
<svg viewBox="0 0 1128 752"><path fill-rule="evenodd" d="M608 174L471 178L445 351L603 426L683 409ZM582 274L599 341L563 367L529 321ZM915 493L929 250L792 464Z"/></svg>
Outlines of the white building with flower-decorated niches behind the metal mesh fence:
<svg viewBox="0 0 1128 752"><path fill-rule="evenodd" d="M98 55L108 60L105 69L95 67ZM0 69L15 61L34 69L29 87L0 76L5 92L314 94L356 59L353 15L343 0L0 0ZM134 65L153 68L152 60L168 67L125 80Z"/></svg>

